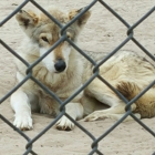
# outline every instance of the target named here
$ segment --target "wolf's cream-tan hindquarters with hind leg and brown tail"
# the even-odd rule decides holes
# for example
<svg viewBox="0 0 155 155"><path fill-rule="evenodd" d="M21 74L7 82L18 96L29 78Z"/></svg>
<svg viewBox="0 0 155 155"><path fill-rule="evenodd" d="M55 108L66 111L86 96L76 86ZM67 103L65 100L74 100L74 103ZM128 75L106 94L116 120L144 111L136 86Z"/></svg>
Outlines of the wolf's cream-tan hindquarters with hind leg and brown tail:
<svg viewBox="0 0 155 155"><path fill-rule="evenodd" d="M120 51L100 66L100 75L131 101L155 80L155 68L132 51ZM110 106L110 108L93 112L84 118L85 121L105 117L118 120L124 115L126 104L99 79L95 79L84 93ZM155 116L154 94L155 86L132 105L132 111L138 118ZM132 117L128 116L127 120Z"/></svg>

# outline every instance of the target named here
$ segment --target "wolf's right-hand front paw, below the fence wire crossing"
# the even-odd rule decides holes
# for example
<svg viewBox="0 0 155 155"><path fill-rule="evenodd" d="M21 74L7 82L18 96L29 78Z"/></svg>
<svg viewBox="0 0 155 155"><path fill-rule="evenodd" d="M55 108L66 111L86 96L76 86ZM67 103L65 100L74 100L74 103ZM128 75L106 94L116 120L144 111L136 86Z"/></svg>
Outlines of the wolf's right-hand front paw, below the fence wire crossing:
<svg viewBox="0 0 155 155"><path fill-rule="evenodd" d="M60 131L72 131L74 126L74 123L66 116L62 116L55 124L55 127Z"/></svg>

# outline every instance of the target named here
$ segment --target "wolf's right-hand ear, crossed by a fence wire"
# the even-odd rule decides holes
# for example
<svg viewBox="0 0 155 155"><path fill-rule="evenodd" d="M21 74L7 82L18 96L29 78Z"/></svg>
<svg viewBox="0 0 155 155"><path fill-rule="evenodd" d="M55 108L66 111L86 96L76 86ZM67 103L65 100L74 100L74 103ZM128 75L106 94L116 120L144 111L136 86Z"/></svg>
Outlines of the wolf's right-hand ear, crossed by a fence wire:
<svg viewBox="0 0 155 155"><path fill-rule="evenodd" d="M83 10L82 9L79 9L79 10L71 10L69 12L69 19L72 20L73 18L75 18L75 16L78 16L78 13L80 13L81 11ZM86 22L87 22L87 19L90 18L91 16L91 12L90 11L86 11L84 14L82 14L78 20L76 20L76 23L79 27L83 27Z"/></svg>

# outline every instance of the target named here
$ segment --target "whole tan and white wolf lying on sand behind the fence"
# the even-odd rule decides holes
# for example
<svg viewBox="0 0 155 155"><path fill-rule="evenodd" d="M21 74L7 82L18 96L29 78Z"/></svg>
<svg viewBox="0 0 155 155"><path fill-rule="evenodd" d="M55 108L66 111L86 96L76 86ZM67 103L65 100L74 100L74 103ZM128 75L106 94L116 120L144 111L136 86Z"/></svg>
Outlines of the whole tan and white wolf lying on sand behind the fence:
<svg viewBox="0 0 155 155"><path fill-rule="evenodd" d="M81 10L69 13L56 8L48 10L61 24L66 24ZM66 30L66 37L78 44L78 38L90 18L87 11ZM17 21L27 34L19 49L19 54L30 64L42 56L60 38L60 28L43 13L21 10ZM87 52L96 62L106 54ZM27 66L19 60L17 80L25 76ZM86 61L68 41L61 42L37 66L32 74L53 91L62 101L71 96L93 74L93 65ZM155 68L134 52L120 51L100 66L100 74L117 89L128 101L136 96L155 80ZM108 108L103 108L107 105ZM45 93L32 80L27 81L11 96L11 106L16 112L14 125L20 130L31 130L32 112L56 116L60 104ZM91 84L65 106L66 113L74 120L95 121L100 118L118 120L125 113L125 103L103 82L94 79ZM138 118L155 116L155 86L149 89L132 105ZM126 120L132 120L128 116ZM62 116L56 122L58 130L73 130L74 124Z"/></svg>

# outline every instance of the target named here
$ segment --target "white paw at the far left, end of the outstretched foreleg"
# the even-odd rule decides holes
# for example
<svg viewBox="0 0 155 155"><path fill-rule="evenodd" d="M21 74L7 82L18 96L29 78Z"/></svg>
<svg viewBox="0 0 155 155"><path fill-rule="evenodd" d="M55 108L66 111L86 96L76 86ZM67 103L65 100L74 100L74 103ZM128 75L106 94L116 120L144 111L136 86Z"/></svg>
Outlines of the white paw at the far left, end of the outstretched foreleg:
<svg viewBox="0 0 155 155"><path fill-rule="evenodd" d="M16 116L13 125L20 128L21 131L29 131L32 130L32 118L30 116Z"/></svg>

